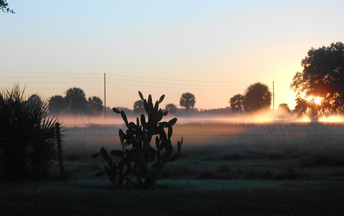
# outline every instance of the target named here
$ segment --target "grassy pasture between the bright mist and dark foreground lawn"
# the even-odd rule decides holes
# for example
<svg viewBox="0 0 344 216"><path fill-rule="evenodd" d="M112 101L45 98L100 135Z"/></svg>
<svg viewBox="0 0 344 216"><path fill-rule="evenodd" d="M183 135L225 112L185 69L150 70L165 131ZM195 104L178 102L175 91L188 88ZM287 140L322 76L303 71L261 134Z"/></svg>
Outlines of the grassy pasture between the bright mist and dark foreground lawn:
<svg viewBox="0 0 344 216"><path fill-rule="evenodd" d="M65 128L65 160L82 161L96 173L101 160L90 156L100 147L120 149L121 127ZM341 124L197 124L173 129L174 143L184 137L182 154L166 165L161 178L293 180L342 178L344 173ZM228 171L218 171L223 167Z"/></svg>

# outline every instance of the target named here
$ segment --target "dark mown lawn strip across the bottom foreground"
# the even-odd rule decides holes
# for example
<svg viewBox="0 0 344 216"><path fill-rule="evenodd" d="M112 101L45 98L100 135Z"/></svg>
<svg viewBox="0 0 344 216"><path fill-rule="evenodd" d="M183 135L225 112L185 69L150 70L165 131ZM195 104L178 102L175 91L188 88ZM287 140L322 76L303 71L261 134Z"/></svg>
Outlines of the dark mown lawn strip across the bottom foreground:
<svg viewBox="0 0 344 216"><path fill-rule="evenodd" d="M341 181L162 180L115 191L107 180L0 182L0 215L341 215Z"/></svg>

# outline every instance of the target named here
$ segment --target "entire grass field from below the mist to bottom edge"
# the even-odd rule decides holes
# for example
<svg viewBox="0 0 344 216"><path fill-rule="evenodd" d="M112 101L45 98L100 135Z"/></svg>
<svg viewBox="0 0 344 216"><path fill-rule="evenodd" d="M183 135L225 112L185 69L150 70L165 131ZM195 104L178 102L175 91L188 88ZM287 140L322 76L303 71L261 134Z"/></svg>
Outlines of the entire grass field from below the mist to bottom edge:
<svg viewBox="0 0 344 216"><path fill-rule="evenodd" d="M65 128L70 180L1 182L0 215L341 215L341 124L175 125L181 157L158 191L116 191L100 147L120 149L116 126Z"/></svg>

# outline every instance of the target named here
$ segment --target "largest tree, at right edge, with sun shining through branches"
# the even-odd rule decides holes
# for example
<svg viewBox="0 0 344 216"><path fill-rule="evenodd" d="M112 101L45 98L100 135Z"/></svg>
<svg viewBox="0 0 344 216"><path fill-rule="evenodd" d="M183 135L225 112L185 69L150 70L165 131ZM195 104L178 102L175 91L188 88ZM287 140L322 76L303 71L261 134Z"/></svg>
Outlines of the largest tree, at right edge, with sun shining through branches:
<svg viewBox="0 0 344 216"><path fill-rule="evenodd" d="M301 61L303 70L297 72L290 88L297 97L321 97L318 110L343 111L344 104L344 45L332 43L330 47L311 48ZM310 108L309 104L308 108Z"/></svg>

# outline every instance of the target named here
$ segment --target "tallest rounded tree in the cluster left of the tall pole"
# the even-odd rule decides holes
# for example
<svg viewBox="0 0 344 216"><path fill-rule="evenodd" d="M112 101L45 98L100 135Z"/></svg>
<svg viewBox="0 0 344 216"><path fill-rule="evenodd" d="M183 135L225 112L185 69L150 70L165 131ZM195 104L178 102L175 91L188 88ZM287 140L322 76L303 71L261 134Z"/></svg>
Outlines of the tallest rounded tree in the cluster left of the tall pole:
<svg viewBox="0 0 344 216"><path fill-rule="evenodd" d="M85 93L80 88L69 88L65 95L65 101L70 106L72 112L80 113L87 111L87 100Z"/></svg>

